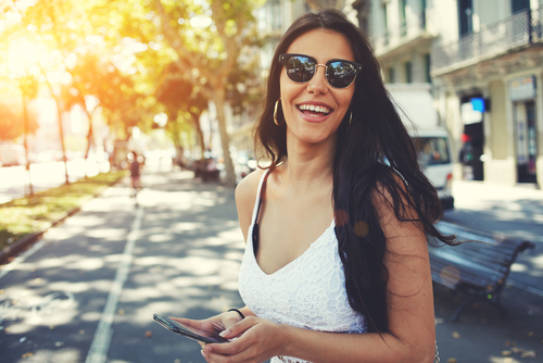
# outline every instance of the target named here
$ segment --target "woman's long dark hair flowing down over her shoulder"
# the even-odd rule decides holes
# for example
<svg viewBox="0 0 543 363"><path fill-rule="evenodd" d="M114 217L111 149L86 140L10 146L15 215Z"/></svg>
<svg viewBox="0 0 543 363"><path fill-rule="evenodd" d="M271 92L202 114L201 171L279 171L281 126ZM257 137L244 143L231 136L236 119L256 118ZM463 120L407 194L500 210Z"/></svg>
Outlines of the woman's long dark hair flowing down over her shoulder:
<svg viewBox="0 0 543 363"><path fill-rule="evenodd" d="M437 191L417 162L415 147L384 88L369 42L341 12L304 14L279 41L272 60L264 111L256 124L256 142L270 158L272 170L286 160L287 126L280 110L280 125L274 123L282 71L278 58L296 38L317 28L342 34L351 42L355 61L363 64L350 111L337 132L332 192L336 236L352 309L366 316L370 331L388 331L388 271L383 263L387 240L374 204L376 193L391 201L400 221L417 222L428 240L451 243L453 237L443 236L433 226L442 215ZM417 216L409 216L408 210L416 211Z"/></svg>

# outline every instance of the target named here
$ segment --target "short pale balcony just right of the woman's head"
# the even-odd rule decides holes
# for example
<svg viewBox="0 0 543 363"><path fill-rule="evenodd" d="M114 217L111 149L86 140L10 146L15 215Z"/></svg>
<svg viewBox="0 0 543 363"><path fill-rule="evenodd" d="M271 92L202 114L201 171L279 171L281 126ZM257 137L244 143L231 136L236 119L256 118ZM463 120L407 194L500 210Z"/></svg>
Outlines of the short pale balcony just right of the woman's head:
<svg viewBox="0 0 543 363"><path fill-rule="evenodd" d="M371 42L378 58L393 58L421 43L430 43L433 37L426 29L426 13L409 16L396 28L391 28Z"/></svg>

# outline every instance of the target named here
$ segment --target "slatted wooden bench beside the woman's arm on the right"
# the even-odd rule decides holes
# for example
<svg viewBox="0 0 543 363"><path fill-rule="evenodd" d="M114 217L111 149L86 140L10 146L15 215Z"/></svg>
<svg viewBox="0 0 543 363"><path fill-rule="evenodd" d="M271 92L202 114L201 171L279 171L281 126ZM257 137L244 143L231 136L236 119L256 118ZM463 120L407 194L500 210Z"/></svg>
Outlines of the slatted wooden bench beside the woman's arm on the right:
<svg viewBox="0 0 543 363"><path fill-rule="evenodd" d="M438 229L456 235L459 246L429 247L432 280L464 296L451 322L476 301L496 308L502 316L502 290L519 252L534 248L529 241L514 240L483 233L468 233L454 224L439 222Z"/></svg>

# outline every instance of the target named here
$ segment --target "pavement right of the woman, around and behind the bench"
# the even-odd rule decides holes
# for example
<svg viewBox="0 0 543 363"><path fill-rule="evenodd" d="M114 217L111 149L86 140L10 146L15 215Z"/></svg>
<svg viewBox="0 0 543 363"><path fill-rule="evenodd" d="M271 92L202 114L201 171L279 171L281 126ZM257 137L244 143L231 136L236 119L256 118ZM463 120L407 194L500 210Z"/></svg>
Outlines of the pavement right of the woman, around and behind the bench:
<svg viewBox="0 0 543 363"><path fill-rule="evenodd" d="M505 320L493 309L479 305L465 310L458 323L449 323L446 317L459 298L435 288L441 362L543 362L543 191L455 180L453 195L455 209L445 211L444 221L527 239L535 249L520 254L512 266L502 295L508 314Z"/></svg>

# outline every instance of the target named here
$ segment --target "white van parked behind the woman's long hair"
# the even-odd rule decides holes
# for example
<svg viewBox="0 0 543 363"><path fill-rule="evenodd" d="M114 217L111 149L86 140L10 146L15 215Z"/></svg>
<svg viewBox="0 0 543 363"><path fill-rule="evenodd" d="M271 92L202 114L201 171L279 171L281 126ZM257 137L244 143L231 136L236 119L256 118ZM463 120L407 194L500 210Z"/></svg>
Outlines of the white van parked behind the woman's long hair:
<svg viewBox="0 0 543 363"><path fill-rule="evenodd" d="M430 85L389 84L387 89L400 108L400 116L404 120L417 148L419 162L424 165L428 179L438 190L443 209L453 209L451 137L445 128L439 126Z"/></svg>

